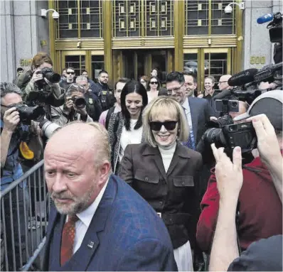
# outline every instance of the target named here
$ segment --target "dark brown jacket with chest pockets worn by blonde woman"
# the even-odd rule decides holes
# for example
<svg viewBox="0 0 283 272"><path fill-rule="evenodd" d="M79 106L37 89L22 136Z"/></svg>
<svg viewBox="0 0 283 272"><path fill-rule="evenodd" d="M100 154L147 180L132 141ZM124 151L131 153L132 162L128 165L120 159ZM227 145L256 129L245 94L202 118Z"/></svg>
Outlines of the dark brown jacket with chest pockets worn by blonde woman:
<svg viewBox="0 0 283 272"><path fill-rule="evenodd" d="M177 143L171 165L165 173L159 148L147 143L127 146L120 177L156 210L161 212L173 248L188 240L194 247L200 214L198 170L201 154Z"/></svg>

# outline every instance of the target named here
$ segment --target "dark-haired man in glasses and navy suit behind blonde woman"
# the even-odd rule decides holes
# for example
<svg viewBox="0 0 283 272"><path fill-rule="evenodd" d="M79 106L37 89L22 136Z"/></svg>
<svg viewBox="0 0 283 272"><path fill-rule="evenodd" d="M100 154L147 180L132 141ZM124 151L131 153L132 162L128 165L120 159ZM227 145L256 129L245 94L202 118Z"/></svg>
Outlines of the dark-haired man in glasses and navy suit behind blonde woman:
<svg viewBox="0 0 283 272"><path fill-rule="evenodd" d="M191 77L192 84L196 84L196 80ZM171 72L166 78L166 89L167 94L175 97L183 107L188 126L190 127L190 135L186 146L191 149L196 149L198 141L205 132L205 123L210 121L210 116L213 116L213 109L210 107L206 99L197 97L186 97L187 83L183 73Z"/></svg>

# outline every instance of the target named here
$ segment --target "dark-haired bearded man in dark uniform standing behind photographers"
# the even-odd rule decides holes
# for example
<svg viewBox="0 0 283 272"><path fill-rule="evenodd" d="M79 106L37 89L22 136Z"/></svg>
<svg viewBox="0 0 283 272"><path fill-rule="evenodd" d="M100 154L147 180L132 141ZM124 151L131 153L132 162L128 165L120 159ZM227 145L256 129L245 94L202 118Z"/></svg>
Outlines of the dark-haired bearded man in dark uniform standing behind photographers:
<svg viewBox="0 0 283 272"><path fill-rule="evenodd" d="M100 99L102 111L110 109L116 102L114 91L109 87L108 80L108 72L101 70L98 74L98 82L92 87L92 92Z"/></svg>

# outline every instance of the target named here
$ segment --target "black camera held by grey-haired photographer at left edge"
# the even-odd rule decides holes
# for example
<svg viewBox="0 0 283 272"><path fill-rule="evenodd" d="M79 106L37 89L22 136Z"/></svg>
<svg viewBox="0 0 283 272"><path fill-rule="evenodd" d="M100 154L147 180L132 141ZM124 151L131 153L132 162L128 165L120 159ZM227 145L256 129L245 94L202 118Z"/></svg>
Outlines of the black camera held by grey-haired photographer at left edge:
<svg viewBox="0 0 283 272"><path fill-rule="evenodd" d="M16 107L16 110L20 115L21 123L26 125L31 124L31 120L36 121L40 119L46 113L43 107L38 105L34 107L28 107L26 104L18 104L14 105L13 107Z"/></svg>

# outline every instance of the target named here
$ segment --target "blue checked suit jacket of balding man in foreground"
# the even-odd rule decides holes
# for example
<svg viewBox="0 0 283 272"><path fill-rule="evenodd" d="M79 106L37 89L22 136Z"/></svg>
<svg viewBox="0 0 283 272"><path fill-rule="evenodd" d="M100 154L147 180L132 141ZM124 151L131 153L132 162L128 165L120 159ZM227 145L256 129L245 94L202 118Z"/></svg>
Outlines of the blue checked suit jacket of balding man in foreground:
<svg viewBox="0 0 283 272"><path fill-rule="evenodd" d="M65 216L50 210L43 271L177 271L162 220L142 197L114 175L80 249L60 267Z"/></svg>

